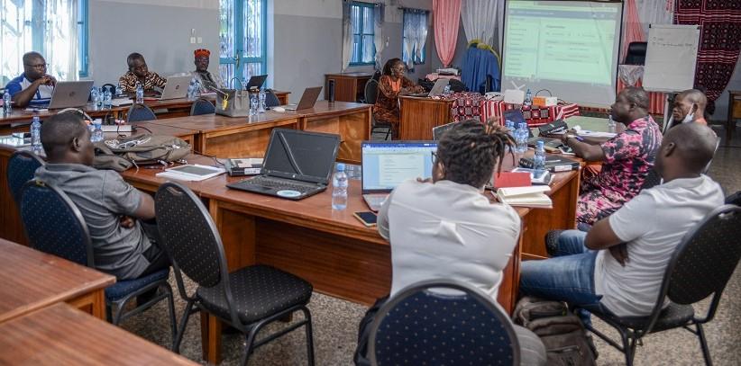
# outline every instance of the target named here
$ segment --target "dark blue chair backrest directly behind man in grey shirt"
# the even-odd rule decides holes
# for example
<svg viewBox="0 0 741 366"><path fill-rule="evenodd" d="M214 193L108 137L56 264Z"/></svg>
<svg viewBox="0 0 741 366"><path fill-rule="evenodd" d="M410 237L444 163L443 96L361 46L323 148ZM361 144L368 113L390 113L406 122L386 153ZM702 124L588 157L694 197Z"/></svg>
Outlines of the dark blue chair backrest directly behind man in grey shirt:
<svg viewBox="0 0 741 366"><path fill-rule="evenodd" d="M40 181L23 184L21 219L34 249L95 267L85 219L59 188Z"/></svg>

